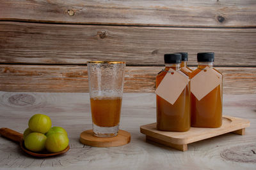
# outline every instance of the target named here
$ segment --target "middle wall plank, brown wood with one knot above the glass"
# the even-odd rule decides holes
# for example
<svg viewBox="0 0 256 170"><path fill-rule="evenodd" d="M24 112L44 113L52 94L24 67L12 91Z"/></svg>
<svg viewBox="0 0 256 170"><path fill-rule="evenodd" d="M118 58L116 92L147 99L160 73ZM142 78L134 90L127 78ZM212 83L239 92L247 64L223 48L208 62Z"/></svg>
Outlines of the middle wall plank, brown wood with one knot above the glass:
<svg viewBox="0 0 256 170"><path fill-rule="evenodd" d="M256 29L124 27L0 22L0 62L163 66L164 53L215 52L216 66L256 66ZM243 60L241 60L243 58Z"/></svg>

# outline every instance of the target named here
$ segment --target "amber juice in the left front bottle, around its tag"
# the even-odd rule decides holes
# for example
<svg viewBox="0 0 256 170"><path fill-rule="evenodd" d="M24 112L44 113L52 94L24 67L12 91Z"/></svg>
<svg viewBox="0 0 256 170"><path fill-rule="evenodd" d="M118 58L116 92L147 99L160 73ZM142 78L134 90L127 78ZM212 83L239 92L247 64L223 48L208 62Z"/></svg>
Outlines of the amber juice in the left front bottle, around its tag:
<svg viewBox="0 0 256 170"><path fill-rule="evenodd" d="M156 88L168 73L170 68L187 76L179 70L180 64L166 64L164 71L156 77ZM171 74L171 73L168 73ZM168 90L168 89L166 89ZM174 104L168 103L162 97L156 96L157 129L160 131L185 132L190 128L190 89L189 85L180 94Z"/></svg>

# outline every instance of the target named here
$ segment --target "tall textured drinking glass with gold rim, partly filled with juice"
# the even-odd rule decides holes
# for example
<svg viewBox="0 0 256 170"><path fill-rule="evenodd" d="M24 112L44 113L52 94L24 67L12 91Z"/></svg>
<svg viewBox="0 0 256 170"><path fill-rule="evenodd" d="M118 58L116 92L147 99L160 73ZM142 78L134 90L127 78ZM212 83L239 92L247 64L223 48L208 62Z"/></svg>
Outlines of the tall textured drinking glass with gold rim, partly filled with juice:
<svg viewBox="0 0 256 170"><path fill-rule="evenodd" d="M90 61L87 67L93 134L114 137L120 122L125 62Z"/></svg>

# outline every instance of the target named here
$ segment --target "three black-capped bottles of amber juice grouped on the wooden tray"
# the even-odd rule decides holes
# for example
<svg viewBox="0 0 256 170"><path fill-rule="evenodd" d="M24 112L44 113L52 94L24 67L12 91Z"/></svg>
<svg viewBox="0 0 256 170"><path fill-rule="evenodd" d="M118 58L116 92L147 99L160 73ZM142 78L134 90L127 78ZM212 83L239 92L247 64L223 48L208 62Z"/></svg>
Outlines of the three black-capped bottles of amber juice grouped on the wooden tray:
<svg viewBox="0 0 256 170"><path fill-rule="evenodd" d="M221 126L222 75L213 67L214 53L198 53L197 60L198 67L191 70L187 67L188 53L164 55L165 67L157 74L156 89L164 78L170 81L163 81L163 83L180 82L179 76L173 76L172 79L171 74L174 71L190 81L180 91L179 97L173 104L156 95L157 129L159 131L185 132L191 126L212 128ZM168 74L170 76L167 76ZM175 86L170 85L170 87ZM166 93L170 90L173 89L164 89Z"/></svg>

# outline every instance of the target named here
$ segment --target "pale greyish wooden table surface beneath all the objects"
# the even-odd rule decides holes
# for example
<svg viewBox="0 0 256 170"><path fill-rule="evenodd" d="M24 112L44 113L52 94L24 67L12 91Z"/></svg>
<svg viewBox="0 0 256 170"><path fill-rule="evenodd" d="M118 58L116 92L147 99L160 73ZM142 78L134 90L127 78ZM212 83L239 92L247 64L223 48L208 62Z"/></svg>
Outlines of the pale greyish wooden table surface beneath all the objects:
<svg viewBox="0 0 256 170"><path fill-rule="evenodd" d="M92 128L88 93L0 92L0 127L23 132L32 115L43 113L67 129L71 147L65 155L38 159L1 137L0 169L255 169L256 95L228 94L223 103L224 115L250 120L245 135L224 134L180 152L145 141L140 133L140 125L156 122L155 94L125 93L120 127L131 132L131 143L93 148L79 143L79 134Z"/></svg>

